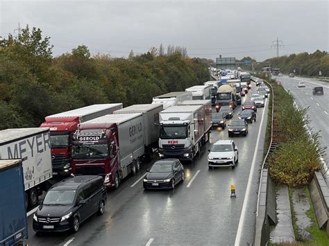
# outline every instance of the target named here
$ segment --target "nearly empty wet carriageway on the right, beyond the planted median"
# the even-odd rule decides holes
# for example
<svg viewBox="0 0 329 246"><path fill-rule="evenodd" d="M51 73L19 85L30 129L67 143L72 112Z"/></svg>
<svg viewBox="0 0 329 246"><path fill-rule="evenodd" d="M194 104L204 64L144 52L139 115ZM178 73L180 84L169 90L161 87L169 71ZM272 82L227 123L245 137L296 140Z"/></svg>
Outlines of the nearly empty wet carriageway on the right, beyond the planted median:
<svg viewBox="0 0 329 246"><path fill-rule="evenodd" d="M311 78L288 78L288 76L276 77L282 82L282 86L290 91L294 96L295 102L303 108L309 107L307 115L310 117L311 132L319 132L321 135L321 146L326 147L326 157L329 156L329 83L321 82ZM298 82L305 82L305 87L298 88ZM323 87L323 96L314 96L312 88L316 86ZM326 165L328 167L328 159L325 157ZM329 173L327 173L328 175Z"/></svg>

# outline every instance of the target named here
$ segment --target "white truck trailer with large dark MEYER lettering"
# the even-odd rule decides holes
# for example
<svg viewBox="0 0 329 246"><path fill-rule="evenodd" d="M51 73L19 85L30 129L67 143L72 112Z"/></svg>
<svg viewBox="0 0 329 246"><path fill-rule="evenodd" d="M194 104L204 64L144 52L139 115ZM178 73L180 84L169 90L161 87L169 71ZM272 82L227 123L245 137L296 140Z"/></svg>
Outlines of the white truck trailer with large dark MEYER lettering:
<svg viewBox="0 0 329 246"><path fill-rule="evenodd" d="M0 131L0 159L22 159L26 207L35 207L38 196L51 186L49 128L14 128Z"/></svg>

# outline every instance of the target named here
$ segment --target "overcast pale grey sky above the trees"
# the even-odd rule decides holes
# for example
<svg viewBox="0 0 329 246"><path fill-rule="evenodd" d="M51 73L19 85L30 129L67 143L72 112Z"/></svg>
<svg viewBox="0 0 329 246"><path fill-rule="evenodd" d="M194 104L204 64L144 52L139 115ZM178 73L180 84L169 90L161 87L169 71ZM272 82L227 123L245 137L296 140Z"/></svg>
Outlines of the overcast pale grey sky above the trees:
<svg viewBox="0 0 329 246"><path fill-rule="evenodd" d="M53 55L85 44L92 53L128 56L151 46L185 46L189 56L261 61L276 55L328 51L328 1L8 1L0 0L0 33L20 22L51 37Z"/></svg>

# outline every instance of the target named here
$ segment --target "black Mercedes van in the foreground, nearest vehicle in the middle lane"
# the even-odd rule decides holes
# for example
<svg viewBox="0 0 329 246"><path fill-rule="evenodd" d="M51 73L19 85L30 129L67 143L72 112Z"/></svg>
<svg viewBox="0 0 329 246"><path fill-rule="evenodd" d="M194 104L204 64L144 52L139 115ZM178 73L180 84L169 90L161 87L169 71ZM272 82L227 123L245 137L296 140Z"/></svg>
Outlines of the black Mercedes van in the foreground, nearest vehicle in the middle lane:
<svg viewBox="0 0 329 246"><path fill-rule="evenodd" d="M103 177L69 177L54 184L33 215L33 230L78 231L80 224L94 213L105 211L106 187Z"/></svg>

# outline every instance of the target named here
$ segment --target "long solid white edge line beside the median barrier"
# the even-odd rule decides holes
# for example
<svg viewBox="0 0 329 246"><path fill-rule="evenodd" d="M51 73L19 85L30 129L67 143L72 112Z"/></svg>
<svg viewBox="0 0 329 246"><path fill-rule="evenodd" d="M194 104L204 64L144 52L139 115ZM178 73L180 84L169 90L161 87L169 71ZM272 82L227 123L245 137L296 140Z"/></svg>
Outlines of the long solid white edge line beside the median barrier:
<svg viewBox="0 0 329 246"><path fill-rule="evenodd" d="M265 102L267 103L267 101ZM265 105L266 107L266 105ZM244 204L242 205L242 211L241 211L241 216L239 218L239 226L237 227L237 236L235 237L235 244L236 246L240 245L240 240L242 237L242 230L243 230L243 226L244 226L244 218L245 218L245 213L246 213L246 207L247 207L247 203L249 200L249 193L251 190L251 183L253 182L252 177L253 177L253 173L255 173L255 162L256 162L256 156L258 155L258 146L260 143L260 132L262 130L262 124L263 124L263 120L264 120L264 113L266 110L263 110L262 113L262 120L260 121L260 128L258 130L258 137L257 137L257 141L256 141L256 148L255 148L255 152L253 154L253 161L251 163L251 172L249 173L249 177L248 177L248 184L247 184L247 188L246 188L246 195L244 195Z"/></svg>

